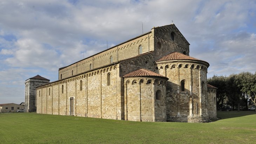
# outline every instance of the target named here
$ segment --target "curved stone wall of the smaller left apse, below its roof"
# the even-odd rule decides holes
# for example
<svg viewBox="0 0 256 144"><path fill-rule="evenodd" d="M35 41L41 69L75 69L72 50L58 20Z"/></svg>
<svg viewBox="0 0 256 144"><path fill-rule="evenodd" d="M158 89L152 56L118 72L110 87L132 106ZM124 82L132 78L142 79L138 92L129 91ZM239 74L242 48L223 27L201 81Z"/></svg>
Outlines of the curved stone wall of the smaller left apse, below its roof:
<svg viewBox="0 0 256 144"><path fill-rule="evenodd" d="M124 78L124 119L128 121L166 121L165 83L162 78ZM156 91L161 98L156 100Z"/></svg>

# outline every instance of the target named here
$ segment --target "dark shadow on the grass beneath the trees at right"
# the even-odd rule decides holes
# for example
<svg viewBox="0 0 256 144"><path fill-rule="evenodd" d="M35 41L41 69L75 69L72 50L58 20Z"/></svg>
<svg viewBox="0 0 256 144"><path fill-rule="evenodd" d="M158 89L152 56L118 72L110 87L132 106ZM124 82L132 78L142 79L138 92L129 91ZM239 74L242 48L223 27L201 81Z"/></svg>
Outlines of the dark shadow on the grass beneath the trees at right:
<svg viewBox="0 0 256 144"><path fill-rule="evenodd" d="M242 117L255 114L255 111L217 111L217 117L220 119Z"/></svg>

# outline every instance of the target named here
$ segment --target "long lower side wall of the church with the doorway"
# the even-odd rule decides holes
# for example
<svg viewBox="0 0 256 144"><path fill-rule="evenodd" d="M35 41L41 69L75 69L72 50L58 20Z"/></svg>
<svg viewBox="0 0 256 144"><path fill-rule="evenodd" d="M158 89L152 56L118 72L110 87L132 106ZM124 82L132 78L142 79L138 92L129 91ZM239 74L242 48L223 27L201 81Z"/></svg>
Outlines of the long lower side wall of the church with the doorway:
<svg viewBox="0 0 256 144"><path fill-rule="evenodd" d="M38 87L37 113L121 119L118 67L113 64Z"/></svg>

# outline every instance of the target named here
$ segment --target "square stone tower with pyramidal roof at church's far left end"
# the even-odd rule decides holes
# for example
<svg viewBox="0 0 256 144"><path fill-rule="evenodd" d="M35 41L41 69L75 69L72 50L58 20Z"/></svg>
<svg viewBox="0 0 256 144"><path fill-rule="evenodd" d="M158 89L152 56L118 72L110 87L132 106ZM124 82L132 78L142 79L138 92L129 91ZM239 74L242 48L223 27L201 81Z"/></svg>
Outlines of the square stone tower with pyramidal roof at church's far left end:
<svg viewBox="0 0 256 144"><path fill-rule="evenodd" d="M25 112L36 111L36 91L35 88L49 83L50 80L47 78L36 75L34 77L28 78L25 81Z"/></svg>

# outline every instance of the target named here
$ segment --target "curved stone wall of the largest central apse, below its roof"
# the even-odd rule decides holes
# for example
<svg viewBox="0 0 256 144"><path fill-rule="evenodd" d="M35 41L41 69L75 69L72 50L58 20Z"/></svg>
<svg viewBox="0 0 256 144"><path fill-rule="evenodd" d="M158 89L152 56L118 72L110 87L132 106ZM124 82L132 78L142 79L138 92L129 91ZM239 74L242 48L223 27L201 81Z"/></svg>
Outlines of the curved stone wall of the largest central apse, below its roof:
<svg viewBox="0 0 256 144"><path fill-rule="evenodd" d="M166 89L167 120L193 122L209 119L206 107L207 66L192 61L160 62L155 72L169 78ZM181 83L184 82L184 90ZM203 86L202 86L203 83ZM203 88L203 90L202 90Z"/></svg>

